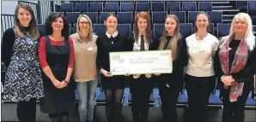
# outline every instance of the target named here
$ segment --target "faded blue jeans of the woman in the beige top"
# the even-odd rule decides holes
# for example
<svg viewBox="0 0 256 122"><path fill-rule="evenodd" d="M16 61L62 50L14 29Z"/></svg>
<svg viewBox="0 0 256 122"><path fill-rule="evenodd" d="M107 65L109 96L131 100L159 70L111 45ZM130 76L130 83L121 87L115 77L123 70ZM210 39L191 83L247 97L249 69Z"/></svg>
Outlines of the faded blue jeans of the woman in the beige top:
<svg viewBox="0 0 256 122"><path fill-rule="evenodd" d="M88 82L76 82L76 89L79 99L78 111L81 122L94 119L94 96L98 85L98 80Z"/></svg>

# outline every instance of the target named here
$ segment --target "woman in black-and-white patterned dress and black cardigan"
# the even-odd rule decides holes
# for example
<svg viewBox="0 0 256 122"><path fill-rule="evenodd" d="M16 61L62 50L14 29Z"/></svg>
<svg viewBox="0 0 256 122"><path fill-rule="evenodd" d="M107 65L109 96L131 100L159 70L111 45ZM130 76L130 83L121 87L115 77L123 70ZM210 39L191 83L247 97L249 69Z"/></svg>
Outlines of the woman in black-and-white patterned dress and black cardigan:
<svg viewBox="0 0 256 122"><path fill-rule="evenodd" d="M36 98L44 96L37 55L40 33L34 11L19 3L15 9L15 26L3 33L2 61L5 74L3 99L18 102L16 113L20 122L34 122Z"/></svg>

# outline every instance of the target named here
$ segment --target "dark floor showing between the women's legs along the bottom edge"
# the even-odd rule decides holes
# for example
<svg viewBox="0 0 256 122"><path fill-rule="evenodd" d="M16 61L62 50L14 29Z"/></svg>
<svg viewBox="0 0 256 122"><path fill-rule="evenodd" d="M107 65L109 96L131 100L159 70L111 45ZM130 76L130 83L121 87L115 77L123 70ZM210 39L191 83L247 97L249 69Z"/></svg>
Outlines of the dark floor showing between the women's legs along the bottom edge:
<svg viewBox="0 0 256 122"><path fill-rule="evenodd" d="M123 107L122 109L123 122L132 122L131 107ZM183 122L186 118L186 108L179 107L179 122ZM256 110L246 110L246 122L255 122ZM207 122L220 122L222 119L222 109L216 107L209 107L207 110ZM15 103L2 103L1 121L18 121L16 117L16 104ZM50 121L46 113L40 112L40 105L37 104L37 121L46 122ZM160 107L149 107L149 121L148 122L161 122L162 110ZM77 109L70 114L70 122L79 122L79 114ZM105 106L96 106L94 114L94 122L107 122L105 115Z"/></svg>

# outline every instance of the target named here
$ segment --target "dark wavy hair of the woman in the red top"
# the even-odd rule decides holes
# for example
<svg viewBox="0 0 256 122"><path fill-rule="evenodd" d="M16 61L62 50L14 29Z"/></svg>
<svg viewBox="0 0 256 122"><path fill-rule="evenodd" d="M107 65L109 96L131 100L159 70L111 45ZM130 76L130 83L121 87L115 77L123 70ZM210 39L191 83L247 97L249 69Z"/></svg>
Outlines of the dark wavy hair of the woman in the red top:
<svg viewBox="0 0 256 122"><path fill-rule="evenodd" d="M68 38L70 36L70 24L69 21L65 18L63 13L52 13L49 15L46 19L46 34L51 35L52 34L52 22L58 18L61 17L64 22L64 27L61 31L61 35L64 38Z"/></svg>

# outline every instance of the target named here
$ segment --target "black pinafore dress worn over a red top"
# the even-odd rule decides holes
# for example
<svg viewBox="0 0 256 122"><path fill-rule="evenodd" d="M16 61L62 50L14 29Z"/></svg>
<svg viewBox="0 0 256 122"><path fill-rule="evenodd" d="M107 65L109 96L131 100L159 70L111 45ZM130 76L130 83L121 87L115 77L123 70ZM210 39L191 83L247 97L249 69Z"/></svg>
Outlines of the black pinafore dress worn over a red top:
<svg viewBox="0 0 256 122"><path fill-rule="evenodd" d="M66 78L70 59L69 40L64 40L64 46L51 45L46 36L46 61L56 79L63 81ZM45 73L42 75L45 97L40 99L40 108L43 113L69 112L75 107L75 90L67 84L63 89L56 88Z"/></svg>

